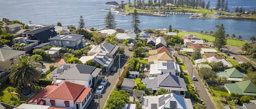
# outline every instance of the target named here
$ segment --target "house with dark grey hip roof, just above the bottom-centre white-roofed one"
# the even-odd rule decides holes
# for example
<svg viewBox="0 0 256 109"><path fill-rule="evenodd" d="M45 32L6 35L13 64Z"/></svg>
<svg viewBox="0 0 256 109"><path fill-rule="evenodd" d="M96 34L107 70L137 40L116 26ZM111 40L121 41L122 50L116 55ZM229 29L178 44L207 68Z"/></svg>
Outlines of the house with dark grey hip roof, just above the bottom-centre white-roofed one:
<svg viewBox="0 0 256 109"><path fill-rule="evenodd" d="M185 97L185 91L187 91L184 79L170 73L147 77L141 80L141 82L153 93L160 88L165 88L169 92Z"/></svg>

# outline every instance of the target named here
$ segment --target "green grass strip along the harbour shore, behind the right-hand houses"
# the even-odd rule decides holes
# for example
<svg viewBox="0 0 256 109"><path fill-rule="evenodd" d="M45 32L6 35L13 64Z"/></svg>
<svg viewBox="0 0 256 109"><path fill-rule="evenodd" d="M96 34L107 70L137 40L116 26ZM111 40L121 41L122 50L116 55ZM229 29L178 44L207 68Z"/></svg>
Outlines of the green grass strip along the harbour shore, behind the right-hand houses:
<svg viewBox="0 0 256 109"><path fill-rule="evenodd" d="M178 36L183 37L187 34L191 35L196 35L199 39L207 39L209 42L214 42L215 37L212 35L206 35L206 34L201 34L201 33L196 33L196 32L189 32L189 31L180 31L178 33ZM233 40L233 39L227 39L227 45L229 46L236 46L236 47L241 47L245 43L252 43L251 41L241 41L241 40Z"/></svg>

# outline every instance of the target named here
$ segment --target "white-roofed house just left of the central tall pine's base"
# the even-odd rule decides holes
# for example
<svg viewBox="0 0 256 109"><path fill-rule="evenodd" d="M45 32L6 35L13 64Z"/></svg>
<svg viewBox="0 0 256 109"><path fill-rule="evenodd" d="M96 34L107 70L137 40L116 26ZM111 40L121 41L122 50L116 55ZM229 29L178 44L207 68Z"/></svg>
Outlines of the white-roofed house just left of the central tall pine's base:
<svg viewBox="0 0 256 109"><path fill-rule="evenodd" d="M136 39L136 34L118 33L116 34L116 37L117 37L118 43L123 43L124 40L129 40L128 43L130 43L130 42L134 42L134 40Z"/></svg>

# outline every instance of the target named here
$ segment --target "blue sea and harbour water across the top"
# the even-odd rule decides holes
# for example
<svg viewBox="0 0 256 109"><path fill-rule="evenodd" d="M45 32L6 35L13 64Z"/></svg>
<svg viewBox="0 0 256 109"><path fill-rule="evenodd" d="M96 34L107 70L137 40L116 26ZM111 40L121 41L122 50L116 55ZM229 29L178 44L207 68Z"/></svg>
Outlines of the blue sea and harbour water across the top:
<svg viewBox="0 0 256 109"><path fill-rule="evenodd" d="M32 21L35 24L78 25L79 16L84 16L87 28L100 28L104 26L106 9L113 8L112 5L104 3L115 0L0 0L0 18L20 20L24 23ZM117 0L120 3L121 0ZM145 0L146 1L146 0ZM210 7L214 8L217 0L210 0ZM132 1L131 1L132 2ZM236 7L248 10L256 9L256 0L229 0L229 9L234 11ZM125 0L124 3L128 3ZM132 29L131 16L118 15L115 12L117 27ZM168 17L154 17L140 15L140 29L168 28L186 31L210 31L217 24L224 24L228 34L241 35L243 40L256 36L256 21L252 20L192 20L189 15L170 15Z"/></svg>

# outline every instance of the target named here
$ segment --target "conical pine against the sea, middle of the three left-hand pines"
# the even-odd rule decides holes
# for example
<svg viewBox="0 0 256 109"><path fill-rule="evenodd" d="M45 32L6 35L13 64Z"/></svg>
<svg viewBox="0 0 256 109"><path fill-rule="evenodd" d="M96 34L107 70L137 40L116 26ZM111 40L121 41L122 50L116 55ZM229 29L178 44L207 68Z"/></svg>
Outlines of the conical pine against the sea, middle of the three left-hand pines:
<svg viewBox="0 0 256 109"><path fill-rule="evenodd" d="M115 16L112 14L111 10L109 9L108 14L105 17L105 26L109 29L114 29L116 27Z"/></svg>

